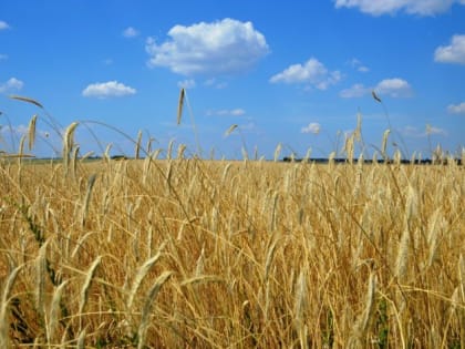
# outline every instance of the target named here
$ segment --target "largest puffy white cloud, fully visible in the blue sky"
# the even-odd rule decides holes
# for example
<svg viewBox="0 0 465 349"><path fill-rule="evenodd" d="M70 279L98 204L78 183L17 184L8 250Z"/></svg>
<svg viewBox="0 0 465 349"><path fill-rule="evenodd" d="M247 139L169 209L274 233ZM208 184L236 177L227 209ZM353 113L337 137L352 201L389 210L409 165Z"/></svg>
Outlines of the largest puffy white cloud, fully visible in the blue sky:
<svg viewBox="0 0 465 349"><path fill-rule="evenodd" d="M168 37L163 43L147 39L148 65L166 66L183 75L242 72L269 52L264 34L251 22L229 18L190 27L175 25Z"/></svg>

